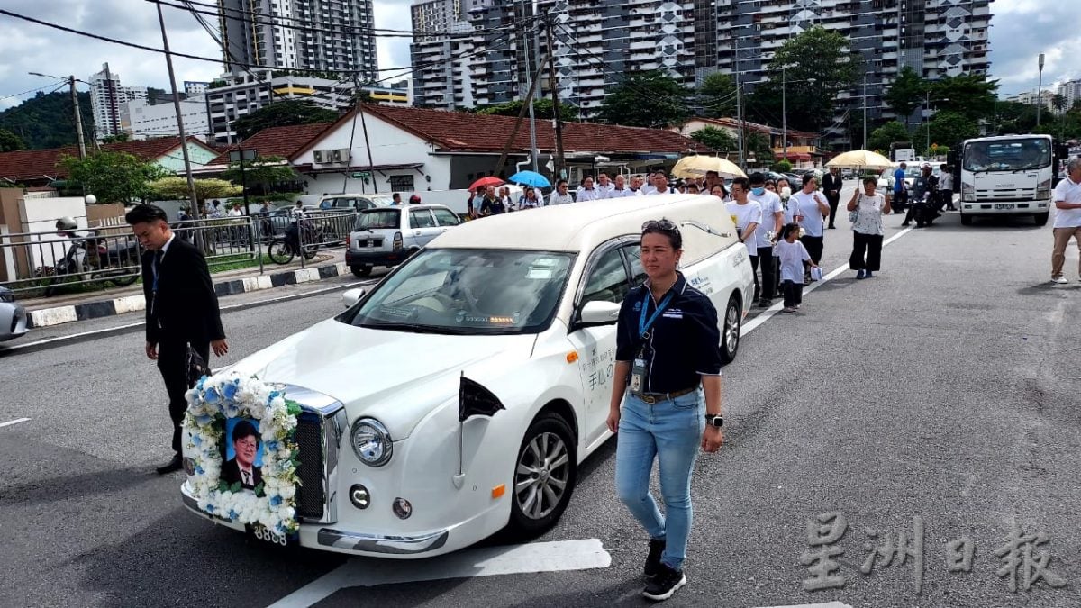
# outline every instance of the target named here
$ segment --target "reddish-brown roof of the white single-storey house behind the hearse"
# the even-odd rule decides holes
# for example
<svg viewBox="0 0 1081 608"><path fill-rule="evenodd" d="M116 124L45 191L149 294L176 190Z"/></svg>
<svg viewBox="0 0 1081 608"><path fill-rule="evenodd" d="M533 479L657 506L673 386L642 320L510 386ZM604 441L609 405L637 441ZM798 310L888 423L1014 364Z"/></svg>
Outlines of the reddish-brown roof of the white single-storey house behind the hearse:
<svg viewBox="0 0 1081 608"><path fill-rule="evenodd" d="M431 142L443 151L498 153L515 128L515 117L490 116L464 111L410 108L365 104L364 111L404 131ZM334 127L352 120L352 110L343 116ZM333 128L328 129L331 132ZM556 132L550 120L537 120L537 147L556 148ZM258 136L258 135L256 135ZM254 137L253 137L254 138ZM249 140L251 141L251 140ZM293 156L313 147L318 137L298 147ZM246 144L245 144L245 147ZM610 154L676 154L708 151L694 140L664 129L643 129L591 122L564 122L563 148L565 151L596 151ZM530 149L530 128L522 121L510 151Z"/></svg>

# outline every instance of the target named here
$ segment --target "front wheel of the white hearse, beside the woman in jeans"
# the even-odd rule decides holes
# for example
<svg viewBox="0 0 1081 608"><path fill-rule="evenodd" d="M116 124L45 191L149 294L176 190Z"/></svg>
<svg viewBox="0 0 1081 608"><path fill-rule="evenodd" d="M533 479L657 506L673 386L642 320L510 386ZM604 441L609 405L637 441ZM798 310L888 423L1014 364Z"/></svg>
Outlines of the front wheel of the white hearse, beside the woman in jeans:
<svg viewBox="0 0 1081 608"><path fill-rule="evenodd" d="M515 461L510 530L532 536L547 530L566 510L577 475L574 433L555 414L533 421Z"/></svg>

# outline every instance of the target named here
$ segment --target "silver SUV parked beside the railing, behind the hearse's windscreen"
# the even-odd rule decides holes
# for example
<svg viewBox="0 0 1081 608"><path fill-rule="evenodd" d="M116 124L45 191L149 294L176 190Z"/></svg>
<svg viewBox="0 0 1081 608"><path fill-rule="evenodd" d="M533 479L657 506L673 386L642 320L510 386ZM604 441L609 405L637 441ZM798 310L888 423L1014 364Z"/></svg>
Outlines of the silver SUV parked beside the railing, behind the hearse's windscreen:
<svg viewBox="0 0 1081 608"><path fill-rule="evenodd" d="M397 266L462 220L442 204L365 209L346 240L345 263L358 277L373 266Z"/></svg>

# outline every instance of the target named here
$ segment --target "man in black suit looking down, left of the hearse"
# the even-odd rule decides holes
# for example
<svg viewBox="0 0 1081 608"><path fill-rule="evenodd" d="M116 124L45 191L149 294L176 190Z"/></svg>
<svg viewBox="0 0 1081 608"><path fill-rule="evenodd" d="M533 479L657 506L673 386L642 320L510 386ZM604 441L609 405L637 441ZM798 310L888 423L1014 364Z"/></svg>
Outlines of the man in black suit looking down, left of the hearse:
<svg viewBox="0 0 1081 608"><path fill-rule="evenodd" d="M229 352L222 329L217 295L202 253L188 241L176 238L165 212L152 204L136 204L124 216L143 252L143 294L146 296L146 356L158 361L158 370L169 393L169 415L173 419L172 460L158 467L164 475L179 471L181 423L188 405L184 393L188 346L203 360L210 348L218 357Z"/></svg>

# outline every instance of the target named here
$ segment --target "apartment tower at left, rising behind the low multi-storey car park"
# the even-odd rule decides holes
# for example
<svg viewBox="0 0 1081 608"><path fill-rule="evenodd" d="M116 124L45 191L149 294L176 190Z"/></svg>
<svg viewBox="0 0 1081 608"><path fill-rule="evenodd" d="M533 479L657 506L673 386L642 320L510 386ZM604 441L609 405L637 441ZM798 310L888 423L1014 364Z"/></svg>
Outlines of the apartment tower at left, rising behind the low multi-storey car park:
<svg viewBox="0 0 1081 608"><path fill-rule="evenodd" d="M377 74L372 0L218 0L225 67ZM346 78L347 75L342 75Z"/></svg>

